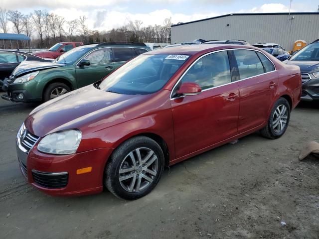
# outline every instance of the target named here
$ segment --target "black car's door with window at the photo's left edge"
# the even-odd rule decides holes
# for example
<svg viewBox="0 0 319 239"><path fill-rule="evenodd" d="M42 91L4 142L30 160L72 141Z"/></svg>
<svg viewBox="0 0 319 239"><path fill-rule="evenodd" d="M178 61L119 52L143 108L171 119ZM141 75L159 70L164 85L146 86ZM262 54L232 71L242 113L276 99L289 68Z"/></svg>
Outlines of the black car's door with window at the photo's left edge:
<svg viewBox="0 0 319 239"><path fill-rule="evenodd" d="M20 64L20 59L14 52L0 52L0 80L11 75L15 67Z"/></svg>

